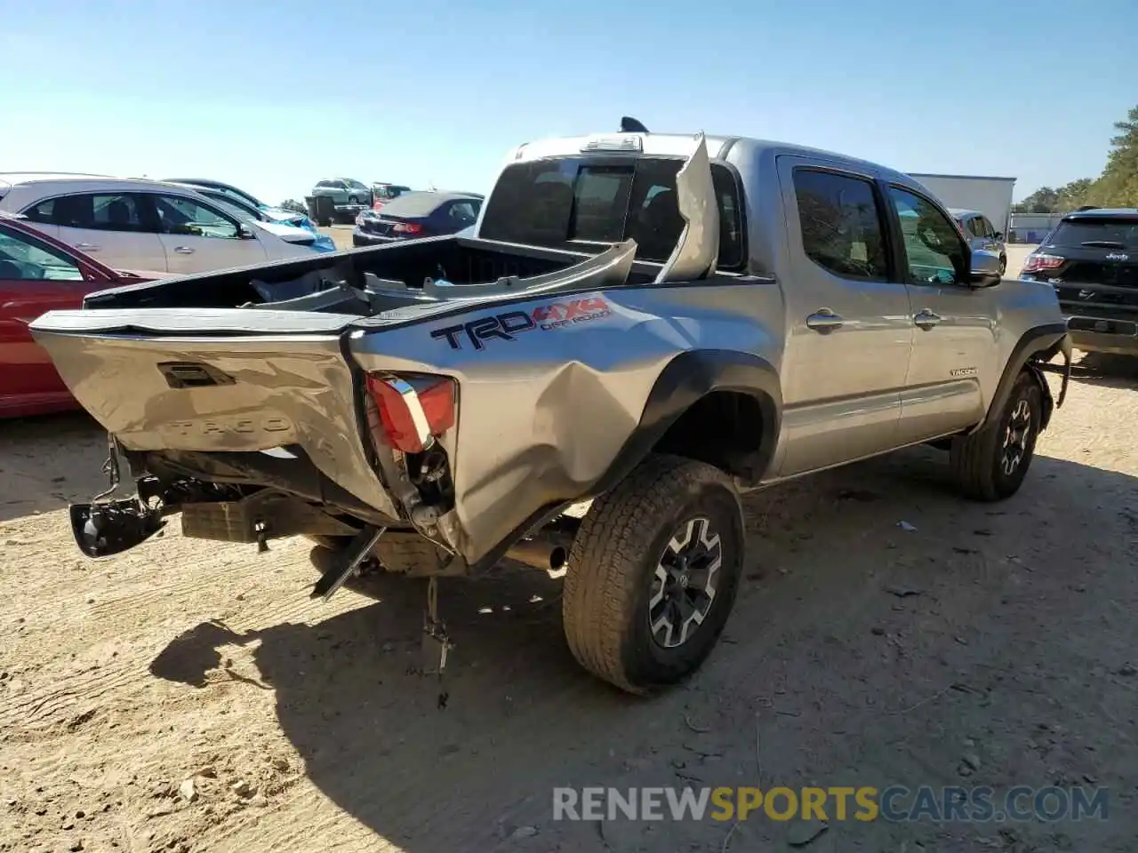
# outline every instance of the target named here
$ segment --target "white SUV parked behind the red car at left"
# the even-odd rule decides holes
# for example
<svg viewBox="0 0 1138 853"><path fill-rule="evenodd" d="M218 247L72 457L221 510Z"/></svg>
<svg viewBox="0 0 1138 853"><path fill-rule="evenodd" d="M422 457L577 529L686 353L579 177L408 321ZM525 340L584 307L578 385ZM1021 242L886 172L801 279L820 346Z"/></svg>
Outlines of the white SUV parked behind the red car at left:
<svg viewBox="0 0 1138 853"><path fill-rule="evenodd" d="M0 210L108 266L183 275L313 254L257 223L241 223L188 188L72 174L0 173ZM314 238L315 235L308 234Z"/></svg>

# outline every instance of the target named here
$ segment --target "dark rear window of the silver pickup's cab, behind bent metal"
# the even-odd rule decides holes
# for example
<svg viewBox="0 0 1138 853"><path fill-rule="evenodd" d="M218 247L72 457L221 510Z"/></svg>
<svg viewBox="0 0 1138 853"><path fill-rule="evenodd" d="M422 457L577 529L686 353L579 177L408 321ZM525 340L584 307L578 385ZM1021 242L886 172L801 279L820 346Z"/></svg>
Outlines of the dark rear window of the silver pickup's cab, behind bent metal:
<svg viewBox="0 0 1138 853"><path fill-rule="evenodd" d="M487 201L487 240L580 248L636 241L636 257L663 263L684 227L676 201L682 159L551 158L508 166ZM719 207L721 270L744 264L742 209L732 173L711 165Z"/></svg>

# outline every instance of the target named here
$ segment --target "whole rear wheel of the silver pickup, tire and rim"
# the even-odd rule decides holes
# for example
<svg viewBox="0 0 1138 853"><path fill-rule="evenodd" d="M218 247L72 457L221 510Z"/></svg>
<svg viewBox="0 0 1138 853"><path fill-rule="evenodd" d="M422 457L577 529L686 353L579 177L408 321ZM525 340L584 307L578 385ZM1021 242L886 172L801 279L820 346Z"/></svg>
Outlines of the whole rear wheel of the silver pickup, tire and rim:
<svg viewBox="0 0 1138 853"><path fill-rule="evenodd" d="M562 616L578 663L635 694L693 673L731 614L744 547L731 478L649 456L593 502L574 539Z"/></svg>

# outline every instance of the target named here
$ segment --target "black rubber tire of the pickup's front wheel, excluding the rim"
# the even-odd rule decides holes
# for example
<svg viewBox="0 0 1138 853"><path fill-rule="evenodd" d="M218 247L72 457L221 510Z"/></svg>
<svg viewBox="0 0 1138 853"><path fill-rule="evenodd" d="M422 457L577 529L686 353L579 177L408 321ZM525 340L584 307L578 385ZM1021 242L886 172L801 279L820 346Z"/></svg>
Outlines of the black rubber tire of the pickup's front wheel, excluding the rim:
<svg viewBox="0 0 1138 853"><path fill-rule="evenodd" d="M1003 467L1004 439L1013 415L1024 401L1031 417L1026 447L1019 465L1008 474ZM1042 412L1042 392L1034 376L1026 371L1021 372L999 417L979 432L953 439L949 465L960 494L973 500L993 502L1009 498L1019 491L1034 456Z"/></svg>

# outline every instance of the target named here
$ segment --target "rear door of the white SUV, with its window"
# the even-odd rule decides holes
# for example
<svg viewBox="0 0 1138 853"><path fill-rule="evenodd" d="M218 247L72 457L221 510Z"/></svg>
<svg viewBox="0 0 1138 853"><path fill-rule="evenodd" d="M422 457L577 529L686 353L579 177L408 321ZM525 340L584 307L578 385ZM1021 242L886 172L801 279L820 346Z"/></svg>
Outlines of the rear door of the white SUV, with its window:
<svg viewBox="0 0 1138 853"><path fill-rule="evenodd" d="M57 226L52 237L116 270L166 270L166 254L134 192L82 192L46 199L24 214Z"/></svg>

